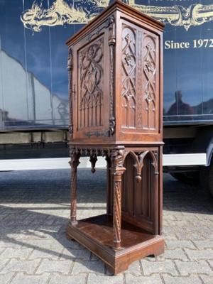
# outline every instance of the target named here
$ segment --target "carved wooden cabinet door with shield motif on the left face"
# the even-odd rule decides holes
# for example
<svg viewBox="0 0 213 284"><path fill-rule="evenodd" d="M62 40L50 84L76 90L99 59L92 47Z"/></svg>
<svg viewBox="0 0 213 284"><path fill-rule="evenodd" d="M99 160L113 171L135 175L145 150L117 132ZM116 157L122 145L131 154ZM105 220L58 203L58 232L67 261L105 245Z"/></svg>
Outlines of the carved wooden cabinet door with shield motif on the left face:
<svg viewBox="0 0 213 284"><path fill-rule="evenodd" d="M109 135L108 29L91 31L74 45L73 138Z"/></svg>

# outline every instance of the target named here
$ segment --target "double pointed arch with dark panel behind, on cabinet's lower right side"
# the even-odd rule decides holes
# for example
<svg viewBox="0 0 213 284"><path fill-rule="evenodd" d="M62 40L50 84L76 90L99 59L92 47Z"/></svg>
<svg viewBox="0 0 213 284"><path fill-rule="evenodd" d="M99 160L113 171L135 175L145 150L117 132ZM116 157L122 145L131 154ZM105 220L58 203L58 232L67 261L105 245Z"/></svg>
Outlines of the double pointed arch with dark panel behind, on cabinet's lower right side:
<svg viewBox="0 0 213 284"><path fill-rule="evenodd" d="M158 234L154 212L158 206L159 154L158 148L126 151L124 167L128 170L124 173L121 200L123 219L155 234Z"/></svg>

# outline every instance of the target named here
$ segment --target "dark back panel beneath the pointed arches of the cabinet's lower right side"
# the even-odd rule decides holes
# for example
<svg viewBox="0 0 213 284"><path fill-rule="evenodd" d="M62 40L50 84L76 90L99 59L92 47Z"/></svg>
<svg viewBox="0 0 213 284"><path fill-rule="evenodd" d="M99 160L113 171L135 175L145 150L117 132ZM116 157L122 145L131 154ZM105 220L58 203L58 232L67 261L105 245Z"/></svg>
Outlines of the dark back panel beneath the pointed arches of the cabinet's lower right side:
<svg viewBox="0 0 213 284"><path fill-rule="evenodd" d="M124 163L126 172L122 186L122 218L153 232L153 193L155 187L153 160L149 154L144 158L140 182L136 180L137 171L133 166L135 163L135 159L130 154L126 156Z"/></svg>

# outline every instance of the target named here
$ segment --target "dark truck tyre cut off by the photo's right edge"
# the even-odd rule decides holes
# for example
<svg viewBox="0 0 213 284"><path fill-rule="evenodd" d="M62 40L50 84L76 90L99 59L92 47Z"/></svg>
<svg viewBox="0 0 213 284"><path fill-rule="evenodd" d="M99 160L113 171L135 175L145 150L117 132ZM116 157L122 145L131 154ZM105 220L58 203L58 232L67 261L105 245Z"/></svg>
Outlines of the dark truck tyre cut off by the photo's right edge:
<svg viewBox="0 0 213 284"><path fill-rule="evenodd" d="M202 167L200 170L200 185L203 190L207 190L213 197L213 164L209 167Z"/></svg>

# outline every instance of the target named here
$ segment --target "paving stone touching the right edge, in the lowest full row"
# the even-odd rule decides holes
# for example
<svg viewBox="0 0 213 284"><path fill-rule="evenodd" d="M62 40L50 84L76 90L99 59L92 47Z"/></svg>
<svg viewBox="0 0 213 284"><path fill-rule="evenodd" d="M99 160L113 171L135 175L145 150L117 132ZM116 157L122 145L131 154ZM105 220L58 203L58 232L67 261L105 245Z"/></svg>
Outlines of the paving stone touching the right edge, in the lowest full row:
<svg viewBox="0 0 213 284"><path fill-rule="evenodd" d="M212 269L206 261L175 261L180 271L180 275L189 275L192 273L207 273L213 275Z"/></svg>

